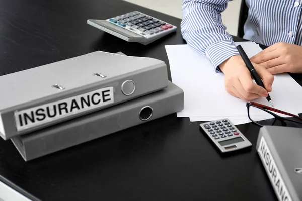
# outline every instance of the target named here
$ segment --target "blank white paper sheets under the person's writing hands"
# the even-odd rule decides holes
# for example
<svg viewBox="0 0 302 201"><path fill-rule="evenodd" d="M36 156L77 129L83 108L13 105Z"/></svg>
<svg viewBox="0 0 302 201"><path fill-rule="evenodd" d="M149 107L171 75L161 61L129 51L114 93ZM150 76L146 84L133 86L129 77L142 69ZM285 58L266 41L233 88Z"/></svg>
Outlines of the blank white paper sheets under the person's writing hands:
<svg viewBox="0 0 302 201"><path fill-rule="evenodd" d="M239 44L249 57L262 50L254 42L236 43ZM184 110L177 113L178 117L190 117L190 121L229 118L234 124L251 122L247 115L246 101L225 91L224 74L216 73L200 53L188 45L166 45L165 48L172 82L181 87L185 94ZM296 115L301 113L302 107L298 103L302 102L302 87L287 73L274 75L274 78L270 92L274 107ZM253 101L269 106L264 97ZM263 115L259 110L259 114L255 113L253 118L270 118Z"/></svg>

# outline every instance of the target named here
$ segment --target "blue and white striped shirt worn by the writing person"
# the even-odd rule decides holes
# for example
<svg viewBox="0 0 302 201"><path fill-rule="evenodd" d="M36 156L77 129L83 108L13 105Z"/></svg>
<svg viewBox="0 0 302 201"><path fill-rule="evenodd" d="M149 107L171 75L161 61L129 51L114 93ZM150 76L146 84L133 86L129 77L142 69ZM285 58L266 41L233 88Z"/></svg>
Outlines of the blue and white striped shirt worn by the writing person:
<svg viewBox="0 0 302 201"><path fill-rule="evenodd" d="M184 0L181 32L187 44L218 65L239 55L232 36L225 31L221 12L232 0ZM245 0L242 0L245 1ZM246 0L249 7L244 39L266 46L277 42L302 45L301 0Z"/></svg>

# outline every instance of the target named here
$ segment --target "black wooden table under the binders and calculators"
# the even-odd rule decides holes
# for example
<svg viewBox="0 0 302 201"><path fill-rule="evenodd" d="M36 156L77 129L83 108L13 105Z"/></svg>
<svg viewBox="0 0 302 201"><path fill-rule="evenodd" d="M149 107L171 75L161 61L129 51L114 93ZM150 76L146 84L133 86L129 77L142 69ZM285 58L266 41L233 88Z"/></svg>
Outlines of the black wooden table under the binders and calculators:
<svg viewBox="0 0 302 201"><path fill-rule="evenodd" d="M179 28L144 46L87 25L135 10L180 26L180 19L119 0L2 0L0 75L97 50L169 67L164 45L185 43ZM29 162L1 139L0 181L33 200L276 200L255 149L259 127L238 128L253 147L229 157L214 149L199 122L175 114Z"/></svg>

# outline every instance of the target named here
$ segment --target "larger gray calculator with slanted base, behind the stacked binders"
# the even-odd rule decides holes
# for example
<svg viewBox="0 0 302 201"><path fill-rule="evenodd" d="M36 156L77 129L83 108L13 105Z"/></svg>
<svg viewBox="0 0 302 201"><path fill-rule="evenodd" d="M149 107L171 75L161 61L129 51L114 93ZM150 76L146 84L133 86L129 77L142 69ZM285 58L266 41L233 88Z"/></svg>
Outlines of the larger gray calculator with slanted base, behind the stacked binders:
<svg viewBox="0 0 302 201"><path fill-rule="evenodd" d="M106 20L89 19L87 24L125 41L138 42L144 45L177 30L177 27L170 23L138 11Z"/></svg>

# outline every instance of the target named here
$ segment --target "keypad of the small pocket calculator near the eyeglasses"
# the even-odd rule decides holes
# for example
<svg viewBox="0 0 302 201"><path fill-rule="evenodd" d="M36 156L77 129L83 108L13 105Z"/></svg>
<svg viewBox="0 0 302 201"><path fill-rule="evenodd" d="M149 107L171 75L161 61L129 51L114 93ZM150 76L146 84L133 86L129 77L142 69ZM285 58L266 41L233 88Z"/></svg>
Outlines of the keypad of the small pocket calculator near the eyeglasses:
<svg viewBox="0 0 302 201"><path fill-rule="evenodd" d="M222 122L209 122L203 126L215 140L232 137L233 135L239 135L239 132L233 127L233 125L225 119L222 120Z"/></svg>

